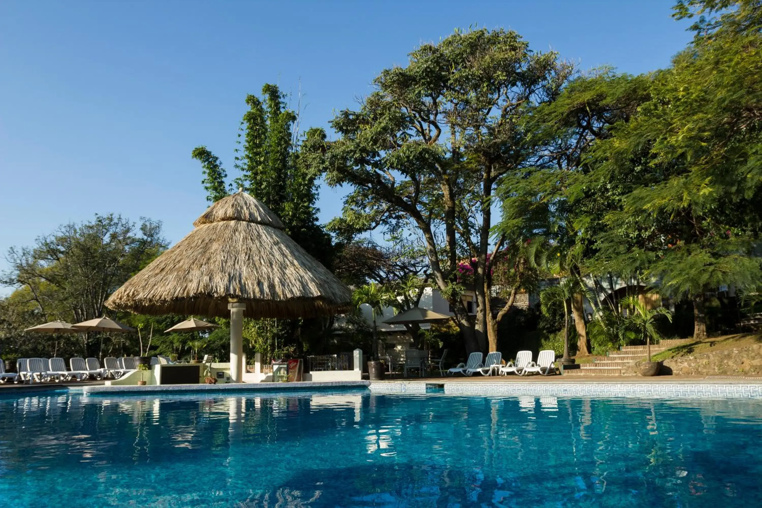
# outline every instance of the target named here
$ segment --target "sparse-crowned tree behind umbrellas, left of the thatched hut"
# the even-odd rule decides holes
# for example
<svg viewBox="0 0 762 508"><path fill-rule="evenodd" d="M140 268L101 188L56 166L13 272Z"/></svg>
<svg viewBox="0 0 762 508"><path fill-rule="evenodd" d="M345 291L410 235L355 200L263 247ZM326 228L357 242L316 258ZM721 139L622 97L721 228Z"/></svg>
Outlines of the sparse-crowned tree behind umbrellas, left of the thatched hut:
<svg viewBox="0 0 762 508"><path fill-rule="evenodd" d="M0 280L17 288L3 302L8 317L12 317L5 321L8 340L27 337L24 327L45 321L79 322L103 315L111 292L166 246L160 222L142 219L136 225L121 216L107 215L82 224L62 225L38 238L34 247L11 248L11 267ZM102 337L75 337L82 338L81 347L69 339L69 353L98 356L104 347ZM23 343L8 345L24 350Z"/></svg>

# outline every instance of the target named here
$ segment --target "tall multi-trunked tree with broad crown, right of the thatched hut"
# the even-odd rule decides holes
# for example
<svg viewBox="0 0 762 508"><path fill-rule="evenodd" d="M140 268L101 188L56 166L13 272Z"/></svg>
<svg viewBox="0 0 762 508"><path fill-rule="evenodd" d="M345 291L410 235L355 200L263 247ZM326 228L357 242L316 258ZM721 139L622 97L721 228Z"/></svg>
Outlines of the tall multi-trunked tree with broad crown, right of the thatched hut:
<svg viewBox="0 0 762 508"><path fill-rule="evenodd" d="M359 110L332 120L338 139L312 145L328 184L353 187L331 226L415 228L468 350L488 348L499 312L488 309L488 254L512 240L491 241L495 188L532 164L535 141L524 120L572 72L555 53L531 51L514 31L458 31L413 51L406 67L383 71ZM457 283L463 259L475 260L475 315Z"/></svg>

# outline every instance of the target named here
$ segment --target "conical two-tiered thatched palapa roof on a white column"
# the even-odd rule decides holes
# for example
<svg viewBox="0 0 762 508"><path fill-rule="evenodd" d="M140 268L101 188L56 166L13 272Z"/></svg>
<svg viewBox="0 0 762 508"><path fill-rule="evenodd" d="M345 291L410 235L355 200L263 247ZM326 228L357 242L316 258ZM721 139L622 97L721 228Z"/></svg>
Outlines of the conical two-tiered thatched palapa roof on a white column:
<svg viewBox="0 0 762 508"><path fill-rule="evenodd" d="M285 232L267 206L239 192L219 200L196 228L128 280L109 308L143 314L309 318L347 308L351 292Z"/></svg>

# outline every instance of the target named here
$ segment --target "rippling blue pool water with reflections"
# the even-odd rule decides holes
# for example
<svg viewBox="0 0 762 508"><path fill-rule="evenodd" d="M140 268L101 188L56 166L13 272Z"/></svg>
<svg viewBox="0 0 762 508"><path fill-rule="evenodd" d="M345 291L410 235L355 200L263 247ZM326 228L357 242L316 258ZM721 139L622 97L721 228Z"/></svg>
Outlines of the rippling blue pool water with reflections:
<svg viewBox="0 0 762 508"><path fill-rule="evenodd" d="M3 506L760 506L762 401L0 396Z"/></svg>

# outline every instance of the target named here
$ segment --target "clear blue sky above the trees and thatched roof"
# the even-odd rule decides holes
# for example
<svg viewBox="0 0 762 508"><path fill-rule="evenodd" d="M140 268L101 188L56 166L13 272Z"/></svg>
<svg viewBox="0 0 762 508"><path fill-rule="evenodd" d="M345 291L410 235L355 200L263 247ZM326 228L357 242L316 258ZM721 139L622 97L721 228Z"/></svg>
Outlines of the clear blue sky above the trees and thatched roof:
<svg viewBox="0 0 762 508"><path fill-rule="evenodd" d="M0 255L96 212L160 219L178 241L207 206L191 149L235 176L244 97L265 82L300 81L303 128L326 126L379 71L469 25L517 30L581 69L648 72L690 40L672 3L4 0ZM322 221L341 196L321 188Z"/></svg>

